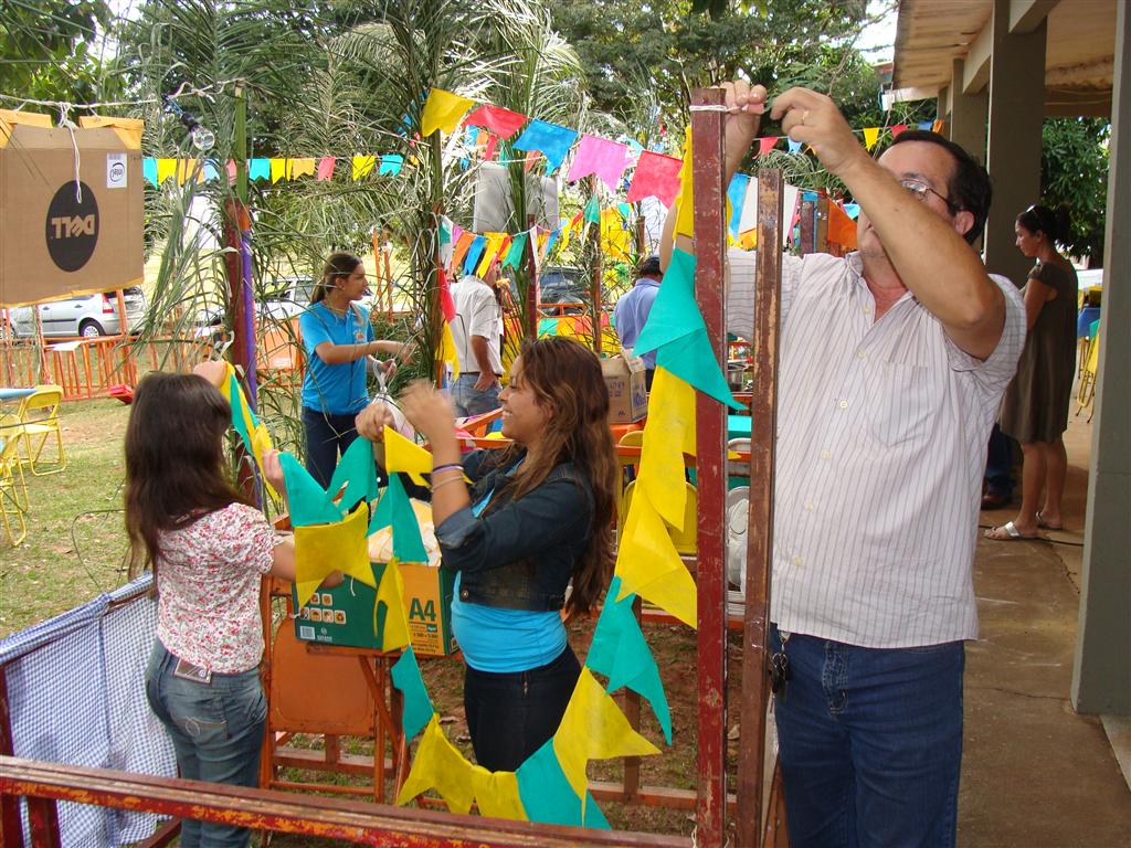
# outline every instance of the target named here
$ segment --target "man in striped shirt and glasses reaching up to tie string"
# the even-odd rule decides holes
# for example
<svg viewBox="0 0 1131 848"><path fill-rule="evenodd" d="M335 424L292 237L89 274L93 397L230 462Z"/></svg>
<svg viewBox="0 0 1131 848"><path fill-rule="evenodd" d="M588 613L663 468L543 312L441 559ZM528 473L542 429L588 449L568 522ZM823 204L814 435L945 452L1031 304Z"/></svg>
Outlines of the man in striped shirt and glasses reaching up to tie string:
<svg viewBox="0 0 1131 848"><path fill-rule="evenodd" d="M724 87L729 180L766 92ZM873 161L804 88L771 116L862 209L858 253L783 262L770 647L789 669L789 841L953 845L985 443L1025 310L970 248L991 190L961 148L905 132ZM753 256L728 259L727 327L749 337Z"/></svg>

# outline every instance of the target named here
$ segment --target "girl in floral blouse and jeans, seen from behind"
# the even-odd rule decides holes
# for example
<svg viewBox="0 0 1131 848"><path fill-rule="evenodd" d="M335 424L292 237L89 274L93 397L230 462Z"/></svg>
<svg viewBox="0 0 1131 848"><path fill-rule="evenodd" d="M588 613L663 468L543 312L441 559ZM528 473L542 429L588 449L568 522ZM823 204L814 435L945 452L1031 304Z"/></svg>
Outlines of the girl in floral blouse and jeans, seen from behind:
<svg viewBox="0 0 1131 848"><path fill-rule="evenodd" d="M126 431L126 528L156 581L146 694L181 777L254 787L267 717L260 578L293 580L294 547L225 474L231 410L216 388L224 373L211 362L138 384ZM243 828L181 827L182 848L249 838Z"/></svg>

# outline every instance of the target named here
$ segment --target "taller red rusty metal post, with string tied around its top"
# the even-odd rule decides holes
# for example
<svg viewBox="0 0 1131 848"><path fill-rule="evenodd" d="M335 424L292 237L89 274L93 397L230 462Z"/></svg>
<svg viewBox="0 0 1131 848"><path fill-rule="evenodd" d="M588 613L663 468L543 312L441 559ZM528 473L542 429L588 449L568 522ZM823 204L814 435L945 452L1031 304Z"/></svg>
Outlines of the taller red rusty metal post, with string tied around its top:
<svg viewBox="0 0 1131 848"><path fill-rule="evenodd" d="M719 88L697 89L694 106L718 105ZM694 185L696 301L707 325L715 360L726 367L723 319L723 258L726 222L723 183L723 112L691 113ZM726 408L696 393L696 485L699 512L699 803L700 848L722 846L726 836Z"/></svg>

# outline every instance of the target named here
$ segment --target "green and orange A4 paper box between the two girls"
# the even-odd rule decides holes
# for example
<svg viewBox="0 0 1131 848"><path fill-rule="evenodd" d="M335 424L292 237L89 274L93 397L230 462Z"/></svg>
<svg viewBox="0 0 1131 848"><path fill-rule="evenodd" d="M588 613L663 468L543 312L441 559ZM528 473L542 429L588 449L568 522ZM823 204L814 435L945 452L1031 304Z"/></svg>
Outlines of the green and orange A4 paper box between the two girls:
<svg viewBox="0 0 1131 848"><path fill-rule="evenodd" d="M372 563L380 585L387 565ZM398 565L405 581L405 606L413 650L421 657L442 657L456 651L451 635L451 589L456 576L450 571L423 564ZM292 589L291 600L297 607L299 597ZM381 648L377 633L383 631L383 607L373 613L377 590L352 577L333 589L319 589L294 620L295 633L305 642L343 644L352 648Z"/></svg>

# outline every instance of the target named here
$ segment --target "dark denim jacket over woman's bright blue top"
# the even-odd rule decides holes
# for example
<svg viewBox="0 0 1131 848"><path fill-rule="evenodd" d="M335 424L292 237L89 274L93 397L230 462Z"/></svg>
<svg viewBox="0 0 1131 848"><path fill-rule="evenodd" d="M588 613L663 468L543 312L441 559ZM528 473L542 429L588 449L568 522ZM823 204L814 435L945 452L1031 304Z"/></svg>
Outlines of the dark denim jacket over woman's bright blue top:
<svg viewBox="0 0 1131 848"><path fill-rule="evenodd" d="M502 490L513 466L499 467L499 455L480 450L464 459L473 482L472 503L493 495L480 518L465 507L437 527L441 566L461 573L460 600L508 609L561 609L593 531L589 481L563 462L542 485L511 501Z"/></svg>

